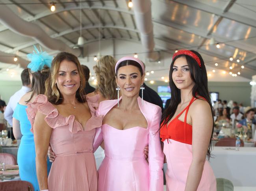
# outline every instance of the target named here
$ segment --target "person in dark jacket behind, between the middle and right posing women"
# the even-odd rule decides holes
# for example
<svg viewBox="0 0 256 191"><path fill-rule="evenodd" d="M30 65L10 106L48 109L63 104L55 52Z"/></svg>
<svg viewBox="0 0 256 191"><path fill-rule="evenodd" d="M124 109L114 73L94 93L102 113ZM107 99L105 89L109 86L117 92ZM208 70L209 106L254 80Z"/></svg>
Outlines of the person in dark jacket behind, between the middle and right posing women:
<svg viewBox="0 0 256 191"><path fill-rule="evenodd" d="M143 62L143 65L146 68L146 65L144 64L144 62ZM145 82L143 82L143 87L145 88L145 89L143 89L143 100L161 107L161 110L163 112L163 101L162 101L161 97L158 95L158 93L156 91L154 91L154 89L148 87L145 84ZM142 90L141 89L139 91L139 96L142 98Z"/></svg>

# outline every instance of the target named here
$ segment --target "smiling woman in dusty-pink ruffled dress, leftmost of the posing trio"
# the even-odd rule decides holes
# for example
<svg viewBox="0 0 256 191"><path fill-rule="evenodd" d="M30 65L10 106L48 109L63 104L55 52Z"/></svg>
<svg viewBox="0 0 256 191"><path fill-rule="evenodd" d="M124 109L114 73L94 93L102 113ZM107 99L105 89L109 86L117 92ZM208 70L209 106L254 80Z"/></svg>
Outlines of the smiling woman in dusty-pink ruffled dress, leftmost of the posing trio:
<svg viewBox="0 0 256 191"><path fill-rule="evenodd" d="M95 116L93 104L85 99L84 85L78 58L59 53L52 61L46 95L38 95L28 105L41 191L97 191L93 139L102 117ZM56 158L47 178L49 144Z"/></svg>

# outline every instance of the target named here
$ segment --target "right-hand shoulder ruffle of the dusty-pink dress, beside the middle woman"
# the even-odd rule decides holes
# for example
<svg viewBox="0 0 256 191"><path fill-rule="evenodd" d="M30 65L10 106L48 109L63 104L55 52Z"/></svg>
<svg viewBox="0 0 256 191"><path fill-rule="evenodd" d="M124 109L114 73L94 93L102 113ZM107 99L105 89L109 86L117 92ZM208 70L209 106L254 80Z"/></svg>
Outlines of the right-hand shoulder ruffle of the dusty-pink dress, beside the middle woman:
<svg viewBox="0 0 256 191"><path fill-rule="evenodd" d="M99 98L100 95L98 94L89 98L87 97L87 104L91 111L91 118L87 121L84 131L90 131L91 129L102 126L103 115L96 116L96 108L99 106Z"/></svg>

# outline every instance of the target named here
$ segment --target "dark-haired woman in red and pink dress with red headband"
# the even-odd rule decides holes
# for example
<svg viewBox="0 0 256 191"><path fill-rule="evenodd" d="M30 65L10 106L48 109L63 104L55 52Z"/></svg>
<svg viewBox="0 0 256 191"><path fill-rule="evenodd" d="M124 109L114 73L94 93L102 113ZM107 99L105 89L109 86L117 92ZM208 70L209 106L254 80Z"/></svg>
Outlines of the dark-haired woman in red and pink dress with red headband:
<svg viewBox="0 0 256 191"><path fill-rule="evenodd" d="M210 164L213 108L204 61L196 51L173 55L171 102L162 116L160 137L166 156L168 191L216 191Z"/></svg>

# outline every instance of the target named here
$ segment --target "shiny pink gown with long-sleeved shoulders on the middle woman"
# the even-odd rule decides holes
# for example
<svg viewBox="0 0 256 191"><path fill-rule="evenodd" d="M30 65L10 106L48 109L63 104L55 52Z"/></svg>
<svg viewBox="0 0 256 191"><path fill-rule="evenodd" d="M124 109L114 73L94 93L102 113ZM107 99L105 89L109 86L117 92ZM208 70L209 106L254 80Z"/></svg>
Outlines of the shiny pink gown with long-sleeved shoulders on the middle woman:
<svg viewBox="0 0 256 191"><path fill-rule="evenodd" d="M138 103L147 119L147 129L119 130L104 124L96 130L95 144L103 138L105 146L105 158L98 169L98 191L163 191L163 152L158 131L161 108L145 101L141 106L141 98ZM117 100L100 102L96 113L104 116L116 104ZM147 145L148 162L144 156Z"/></svg>

